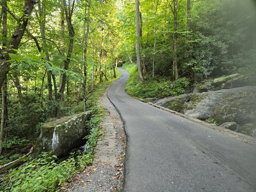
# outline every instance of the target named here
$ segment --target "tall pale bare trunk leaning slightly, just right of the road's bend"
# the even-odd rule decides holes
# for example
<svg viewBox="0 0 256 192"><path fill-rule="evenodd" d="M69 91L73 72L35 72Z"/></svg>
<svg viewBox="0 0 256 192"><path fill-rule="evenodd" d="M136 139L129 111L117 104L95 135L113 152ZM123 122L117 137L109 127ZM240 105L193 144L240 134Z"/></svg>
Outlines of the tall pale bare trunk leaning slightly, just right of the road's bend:
<svg viewBox="0 0 256 192"><path fill-rule="evenodd" d="M143 82L142 70L141 70L141 60L140 60L140 38L141 38L141 29L140 29L140 2L139 0L135 0L135 19L136 19L136 55L137 55L137 67L139 72L139 77Z"/></svg>

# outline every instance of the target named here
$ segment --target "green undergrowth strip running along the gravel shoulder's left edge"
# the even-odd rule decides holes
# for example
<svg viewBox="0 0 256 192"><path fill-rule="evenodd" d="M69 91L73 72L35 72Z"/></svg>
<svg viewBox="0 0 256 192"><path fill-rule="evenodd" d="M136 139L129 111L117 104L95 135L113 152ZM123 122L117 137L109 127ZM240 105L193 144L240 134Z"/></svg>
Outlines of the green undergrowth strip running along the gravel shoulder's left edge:
<svg viewBox="0 0 256 192"><path fill-rule="evenodd" d="M97 101L110 83L111 81L98 84L87 100L88 110L93 111L92 118L87 122L90 133L86 136L86 146L91 150L73 154L71 158L60 164L56 163L57 156L51 153L42 153L38 159L31 160L27 157L23 165L10 170L9 174L0 179L0 191L57 191L63 181L67 181L78 170L91 164L94 157L93 148L97 145L98 137L102 135L99 128L102 111ZM73 108L72 113L82 111L83 103L81 102Z"/></svg>

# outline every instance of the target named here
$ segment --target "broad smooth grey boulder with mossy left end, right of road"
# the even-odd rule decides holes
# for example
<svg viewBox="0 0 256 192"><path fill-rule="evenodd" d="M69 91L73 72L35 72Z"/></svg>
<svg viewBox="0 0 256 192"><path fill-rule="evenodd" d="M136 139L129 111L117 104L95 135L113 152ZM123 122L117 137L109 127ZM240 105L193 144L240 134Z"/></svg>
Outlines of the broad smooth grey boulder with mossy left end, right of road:
<svg viewBox="0 0 256 192"><path fill-rule="evenodd" d="M189 93L178 97L154 101L157 105L175 110L185 115L223 124L235 122L238 125L254 123L256 120L256 86L243 86L203 93ZM242 129L243 130L243 129ZM255 131L245 129L245 134Z"/></svg>

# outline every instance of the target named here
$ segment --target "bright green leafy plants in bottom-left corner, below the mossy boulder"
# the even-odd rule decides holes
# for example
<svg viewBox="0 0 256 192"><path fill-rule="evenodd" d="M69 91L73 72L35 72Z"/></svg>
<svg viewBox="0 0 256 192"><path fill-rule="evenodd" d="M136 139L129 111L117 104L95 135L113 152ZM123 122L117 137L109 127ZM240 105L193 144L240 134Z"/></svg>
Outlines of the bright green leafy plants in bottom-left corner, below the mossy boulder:
<svg viewBox="0 0 256 192"><path fill-rule="evenodd" d="M86 165L87 156L77 157ZM2 178L2 191L55 191L62 181L77 171L75 158L61 164L55 163L56 156L43 153L37 160L23 164L6 178ZM81 164L79 164L81 166ZM79 167L80 168L80 167ZM9 182L9 183L8 183Z"/></svg>

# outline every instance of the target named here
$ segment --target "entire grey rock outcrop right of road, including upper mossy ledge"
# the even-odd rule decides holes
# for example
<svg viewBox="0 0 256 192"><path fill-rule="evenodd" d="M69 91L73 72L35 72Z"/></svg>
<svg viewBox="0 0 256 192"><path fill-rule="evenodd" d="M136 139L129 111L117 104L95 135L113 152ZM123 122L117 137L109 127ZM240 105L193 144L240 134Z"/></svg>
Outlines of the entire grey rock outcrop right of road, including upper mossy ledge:
<svg viewBox="0 0 256 192"><path fill-rule="evenodd" d="M256 137L256 76L234 74L194 87L188 94L156 99L165 108Z"/></svg>

